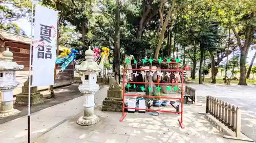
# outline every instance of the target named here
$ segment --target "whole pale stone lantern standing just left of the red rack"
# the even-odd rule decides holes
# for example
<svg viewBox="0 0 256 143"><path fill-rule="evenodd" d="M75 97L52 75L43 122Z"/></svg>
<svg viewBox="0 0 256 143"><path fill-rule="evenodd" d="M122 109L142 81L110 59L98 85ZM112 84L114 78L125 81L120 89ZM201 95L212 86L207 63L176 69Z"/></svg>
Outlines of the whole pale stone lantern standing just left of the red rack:
<svg viewBox="0 0 256 143"><path fill-rule="evenodd" d="M86 61L75 66L75 70L82 74L82 84L79 85L79 91L84 95L84 115L77 120L77 124L83 126L93 125L99 122L99 118L94 115L94 94L99 90L96 84L97 72L101 69L94 61L94 52L89 47L85 52Z"/></svg>

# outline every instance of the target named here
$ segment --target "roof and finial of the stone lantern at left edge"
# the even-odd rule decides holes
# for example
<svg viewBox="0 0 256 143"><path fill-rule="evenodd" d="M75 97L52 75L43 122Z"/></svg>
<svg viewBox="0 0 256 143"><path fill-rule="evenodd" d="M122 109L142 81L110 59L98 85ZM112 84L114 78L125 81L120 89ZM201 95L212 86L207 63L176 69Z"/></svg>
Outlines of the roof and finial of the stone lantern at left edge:
<svg viewBox="0 0 256 143"><path fill-rule="evenodd" d="M9 48L6 48L6 51L3 53L3 58L0 61L0 70L1 71L18 71L24 68L23 65L18 65L16 62L13 62L13 53L9 51Z"/></svg>

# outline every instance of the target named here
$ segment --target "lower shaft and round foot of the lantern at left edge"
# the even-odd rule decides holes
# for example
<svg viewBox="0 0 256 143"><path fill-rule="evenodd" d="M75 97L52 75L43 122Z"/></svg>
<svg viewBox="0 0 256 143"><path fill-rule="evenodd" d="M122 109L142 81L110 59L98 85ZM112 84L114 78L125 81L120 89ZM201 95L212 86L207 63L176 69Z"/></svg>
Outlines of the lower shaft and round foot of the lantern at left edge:
<svg viewBox="0 0 256 143"><path fill-rule="evenodd" d="M2 89L0 118L5 118L20 113L19 110L13 108L12 90L13 88L5 88L5 90Z"/></svg>

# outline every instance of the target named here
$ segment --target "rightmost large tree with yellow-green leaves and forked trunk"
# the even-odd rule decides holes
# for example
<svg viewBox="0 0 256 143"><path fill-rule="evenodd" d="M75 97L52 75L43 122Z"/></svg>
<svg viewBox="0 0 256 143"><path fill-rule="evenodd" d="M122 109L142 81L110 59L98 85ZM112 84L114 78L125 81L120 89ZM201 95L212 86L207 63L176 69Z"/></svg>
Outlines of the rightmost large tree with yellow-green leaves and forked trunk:
<svg viewBox="0 0 256 143"><path fill-rule="evenodd" d="M230 3L229 1L214 1L213 11L219 15L218 19L224 25L230 24L231 30L237 39L237 45L240 48L240 78L239 85L247 85L246 83L246 59L249 48L254 42L255 26L255 6L256 1L243 0L238 3Z"/></svg>

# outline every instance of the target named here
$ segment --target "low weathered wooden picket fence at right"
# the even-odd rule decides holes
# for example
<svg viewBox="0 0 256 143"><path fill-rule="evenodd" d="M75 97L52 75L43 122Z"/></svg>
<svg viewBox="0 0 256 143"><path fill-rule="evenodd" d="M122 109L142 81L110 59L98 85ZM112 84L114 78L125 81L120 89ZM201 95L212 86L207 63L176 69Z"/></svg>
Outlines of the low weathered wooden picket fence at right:
<svg viewBox="0 0 256 143"><path fill-rule="evenodd" d="M207 96L206 98L206 113L210 113L210 115L234 131L236 137L241 135L241 112L242 110L237 106L215 97Z"/></svg>

